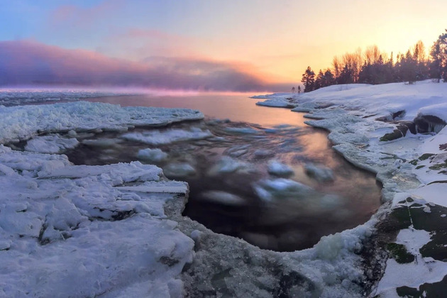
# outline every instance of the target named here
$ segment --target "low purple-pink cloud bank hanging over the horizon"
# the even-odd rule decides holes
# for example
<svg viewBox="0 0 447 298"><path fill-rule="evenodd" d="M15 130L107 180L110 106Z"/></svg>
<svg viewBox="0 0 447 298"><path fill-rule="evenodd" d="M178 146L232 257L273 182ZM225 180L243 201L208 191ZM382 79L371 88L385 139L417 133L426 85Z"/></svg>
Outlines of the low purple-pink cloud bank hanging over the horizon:
<svg viewBox="0 0 447 298"><path fill-rule="evenodd" d="M231 62L171 57L131 62L33 41L1 41L0 85L38 84L231 92L278 92L291 86L265 82Z"/></svg>

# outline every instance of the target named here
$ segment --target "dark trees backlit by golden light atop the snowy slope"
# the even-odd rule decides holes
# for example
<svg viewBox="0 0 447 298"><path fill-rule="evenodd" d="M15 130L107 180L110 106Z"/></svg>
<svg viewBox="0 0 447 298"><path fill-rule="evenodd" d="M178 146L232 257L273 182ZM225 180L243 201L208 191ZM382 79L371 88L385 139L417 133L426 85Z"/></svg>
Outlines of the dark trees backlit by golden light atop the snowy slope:
<svg viewBox="0 0 447 298"><path fill-rule="evenodd" d="M423 79L447 82L447 29L431 46L428 56L421 40L395 58L393 53L382 53L377 45L371 45L365 51L358 48L354 53L333 57L332 67L320 70L317 75L307 67L301 82L304 92L311 92L333 84L413 84ZM294 90L292 88L292 92ZM297 92L301 92L301 87Z"/></svg>

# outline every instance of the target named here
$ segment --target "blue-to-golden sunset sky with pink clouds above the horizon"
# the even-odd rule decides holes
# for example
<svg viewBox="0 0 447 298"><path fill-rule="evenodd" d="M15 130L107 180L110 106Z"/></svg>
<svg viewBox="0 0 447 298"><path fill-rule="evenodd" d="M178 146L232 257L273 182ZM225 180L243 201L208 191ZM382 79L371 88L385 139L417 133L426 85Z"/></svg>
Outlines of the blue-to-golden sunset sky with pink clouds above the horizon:
<svg viewBox="0 0 447 298"><path fill-rule="evenodd" d="M447 1L0 1L0 84L289 91L307 66L444 32Z"/></svg>

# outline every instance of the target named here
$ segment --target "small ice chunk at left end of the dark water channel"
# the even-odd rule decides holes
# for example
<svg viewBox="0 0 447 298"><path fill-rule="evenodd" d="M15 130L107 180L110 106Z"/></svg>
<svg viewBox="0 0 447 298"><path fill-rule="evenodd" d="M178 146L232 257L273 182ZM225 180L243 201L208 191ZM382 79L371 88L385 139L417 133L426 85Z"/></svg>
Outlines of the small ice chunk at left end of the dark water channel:
<svg viewBox="0 0 447 298"><path fill-rule="evenodd" d="M25 150L40 153L60 153L67 149L73 149L79 142L76 138L61 138L60 135L35 136L28 140Z"/></svg>

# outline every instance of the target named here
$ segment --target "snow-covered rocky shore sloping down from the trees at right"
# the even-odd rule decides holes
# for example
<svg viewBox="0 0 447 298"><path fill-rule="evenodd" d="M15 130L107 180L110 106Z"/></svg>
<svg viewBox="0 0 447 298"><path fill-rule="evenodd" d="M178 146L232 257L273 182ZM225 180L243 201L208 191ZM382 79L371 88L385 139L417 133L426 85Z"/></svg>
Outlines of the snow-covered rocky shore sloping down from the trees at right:
<svg viewBox="0 0 447 298"><path fill-rule="evenodd" d="M368 257L389 258L369 274L379 280L373 296L440 297L436 291L447 289L447 84L351 84L263 97L258 104L309 112L307 123L331 131L335 150L383 183L387 215L373 230L379 249Z"/></svg>

